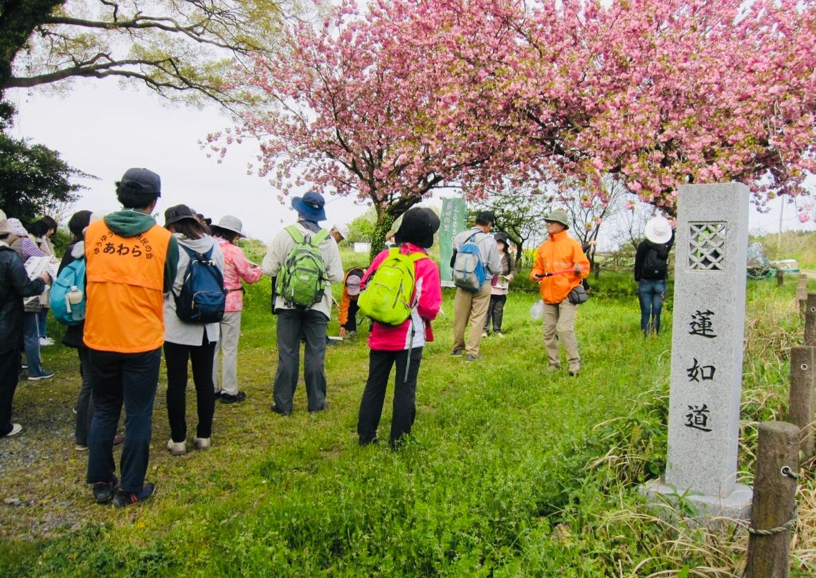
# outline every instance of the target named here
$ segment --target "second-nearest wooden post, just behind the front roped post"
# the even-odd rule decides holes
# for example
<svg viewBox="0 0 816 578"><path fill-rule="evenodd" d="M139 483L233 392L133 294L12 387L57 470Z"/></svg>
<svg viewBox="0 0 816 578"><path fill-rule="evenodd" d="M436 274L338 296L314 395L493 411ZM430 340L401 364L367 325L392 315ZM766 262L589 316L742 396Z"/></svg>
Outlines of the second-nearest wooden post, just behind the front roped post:
<svg viewBox="0 0 816 578"><path fill-rule="evenodd" d="M803 463L814 457L814 376L816 347L791 347L791 390L788 421L799 426Z"/></svg>

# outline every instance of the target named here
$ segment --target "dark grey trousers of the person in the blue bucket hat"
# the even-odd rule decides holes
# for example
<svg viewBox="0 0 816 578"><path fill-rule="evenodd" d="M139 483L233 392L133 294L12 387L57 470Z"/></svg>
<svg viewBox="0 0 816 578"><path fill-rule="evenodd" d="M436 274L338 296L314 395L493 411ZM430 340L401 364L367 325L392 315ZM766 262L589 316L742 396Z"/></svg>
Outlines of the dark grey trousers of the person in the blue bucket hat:
<svg viewBox="0 0 816 578"><path fill-rule="evenodd" d="M277 311L277 372L273 397L279 413L291 413L300 373L300 336L306 338L304 382L308 410L317 412L326 403L326 328L329 318L320 311Z"/></svg>

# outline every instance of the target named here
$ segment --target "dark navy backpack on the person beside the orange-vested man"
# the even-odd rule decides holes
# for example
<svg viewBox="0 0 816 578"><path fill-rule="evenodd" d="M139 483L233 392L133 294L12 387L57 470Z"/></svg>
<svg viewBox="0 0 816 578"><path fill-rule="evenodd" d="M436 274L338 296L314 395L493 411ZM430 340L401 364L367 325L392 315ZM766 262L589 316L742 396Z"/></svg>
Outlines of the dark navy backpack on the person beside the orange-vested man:
<svg viewBox="0 0 816 578"><path fill-rule="evenodd" d="M212 248L205 254L179 245L190 258L184 281L175 298L175 315L188 323L215 323L224 319L227 290L224 275L212 260Z"/></svg>

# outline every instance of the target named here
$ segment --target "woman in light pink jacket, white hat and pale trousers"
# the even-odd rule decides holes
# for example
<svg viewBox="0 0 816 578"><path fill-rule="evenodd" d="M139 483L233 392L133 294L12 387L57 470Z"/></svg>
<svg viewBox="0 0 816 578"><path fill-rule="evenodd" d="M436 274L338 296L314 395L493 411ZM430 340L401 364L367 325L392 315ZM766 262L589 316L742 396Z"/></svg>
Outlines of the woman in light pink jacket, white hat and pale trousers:
<svg viewBox="0 0 816 578"><path fill-rule="evenodd" d="M240 219L225 215L217 225L210 228L224 253L224 289L227 289L224 319L220 324L221 338L215 345L212 363L212 382L215 395L221 399L221 403L233 404L246 399L246 393L238 391L238 338L241 337L241 310L244 307L241 280L257 283L264 275L264 269L247 261L241 247L235 245L235 241L245 236ZM218 364L219 351L221 372Z"/></svg>

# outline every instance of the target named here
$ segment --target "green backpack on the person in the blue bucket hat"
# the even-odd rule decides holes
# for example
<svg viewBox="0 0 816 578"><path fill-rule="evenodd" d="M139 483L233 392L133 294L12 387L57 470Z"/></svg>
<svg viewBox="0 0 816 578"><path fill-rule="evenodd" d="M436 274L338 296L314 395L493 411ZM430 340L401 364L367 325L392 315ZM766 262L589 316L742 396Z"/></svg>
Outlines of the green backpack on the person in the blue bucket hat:
<svg viewBox="0 0 816 578"><path fill-rule="evenodd" d="M314 236L304 237L295 225L286 227L286 232L295 240L295 246L277 274L275 293L283 298L286 307L306 309L319 303L326 290L326 263L320 244L329 232L321 229Z"/></svg>

